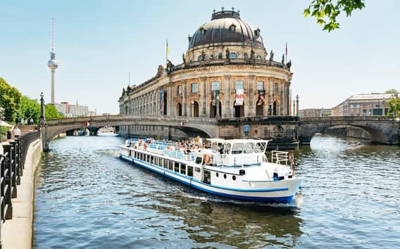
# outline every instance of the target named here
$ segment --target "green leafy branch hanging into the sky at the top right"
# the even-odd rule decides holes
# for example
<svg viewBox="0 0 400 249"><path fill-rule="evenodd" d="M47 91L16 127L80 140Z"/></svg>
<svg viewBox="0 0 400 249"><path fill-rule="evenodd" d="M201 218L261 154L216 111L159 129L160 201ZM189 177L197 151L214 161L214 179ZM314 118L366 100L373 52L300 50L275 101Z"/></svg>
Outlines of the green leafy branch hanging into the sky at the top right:
<svg viewBox="0 0 400 249"><path fill-rule="evenodd" d="M304 10L304 16L313 16L319 25L323 25L323 30L331 32L339 28L336 18L342 11L349 17L356 9L364 7L364 0L312 0Z"/></svg>

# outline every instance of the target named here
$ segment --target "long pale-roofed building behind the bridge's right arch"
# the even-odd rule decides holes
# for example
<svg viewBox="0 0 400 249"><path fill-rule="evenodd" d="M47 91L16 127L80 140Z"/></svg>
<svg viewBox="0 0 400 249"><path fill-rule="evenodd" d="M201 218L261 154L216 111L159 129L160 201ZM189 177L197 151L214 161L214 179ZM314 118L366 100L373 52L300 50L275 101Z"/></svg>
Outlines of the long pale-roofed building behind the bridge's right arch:
<svg viewBox="0 0 400 249"><path fill-rule="evenodd" d="M332 116L382 116L387 102L400 94L356 94L332 108Z"/></svg>

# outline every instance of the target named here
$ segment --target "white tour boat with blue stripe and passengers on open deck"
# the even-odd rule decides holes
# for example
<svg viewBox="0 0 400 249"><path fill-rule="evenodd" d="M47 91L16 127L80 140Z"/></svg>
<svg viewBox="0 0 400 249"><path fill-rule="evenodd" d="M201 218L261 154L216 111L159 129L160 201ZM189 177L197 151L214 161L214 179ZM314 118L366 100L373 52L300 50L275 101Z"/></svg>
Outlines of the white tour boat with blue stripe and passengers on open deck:
<svg viewBox="0 0 400 249"><path fill-rule="evenodd" d="M265 155L268 140L208 139L210 148L184 143L127 139L120 158L216 196L289 203L302 178L294 175L289 153ZM201 147L201 146L199 146ZM268 160L270 159L270 160Z"/></svg>

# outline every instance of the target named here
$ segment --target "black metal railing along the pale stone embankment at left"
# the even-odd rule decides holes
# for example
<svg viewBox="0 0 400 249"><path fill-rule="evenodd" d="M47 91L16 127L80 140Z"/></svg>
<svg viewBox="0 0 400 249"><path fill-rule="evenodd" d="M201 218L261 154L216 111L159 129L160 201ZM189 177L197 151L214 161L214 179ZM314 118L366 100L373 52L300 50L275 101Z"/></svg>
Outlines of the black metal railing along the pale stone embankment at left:
<svg viewBox="0 0 400 249"><path fill-rule="evenodd" d="M3 145L0 154L0 238L1 226L6 219L13 219L12 198L17 198L17 186L21 183L27 149L32 141L39 139L40 132L29 132L10 144ZM1 248L1 241L0 241Z"/></svg>

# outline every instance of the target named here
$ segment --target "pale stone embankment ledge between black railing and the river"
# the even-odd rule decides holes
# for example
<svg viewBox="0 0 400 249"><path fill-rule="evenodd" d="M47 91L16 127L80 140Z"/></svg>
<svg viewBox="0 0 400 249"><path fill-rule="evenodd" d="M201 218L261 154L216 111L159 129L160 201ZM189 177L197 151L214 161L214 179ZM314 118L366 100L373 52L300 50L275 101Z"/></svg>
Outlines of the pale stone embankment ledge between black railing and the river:
<svg viewBox="0 0 400 249"><path fill-rule="evenodd" d="M18 186L18 196L13 198L13 219L1 226L3 248L32 248L33 203L35 172L42 153L42 141L30 143L27 150L25 169Z"/></svg>

